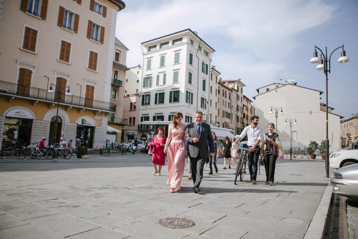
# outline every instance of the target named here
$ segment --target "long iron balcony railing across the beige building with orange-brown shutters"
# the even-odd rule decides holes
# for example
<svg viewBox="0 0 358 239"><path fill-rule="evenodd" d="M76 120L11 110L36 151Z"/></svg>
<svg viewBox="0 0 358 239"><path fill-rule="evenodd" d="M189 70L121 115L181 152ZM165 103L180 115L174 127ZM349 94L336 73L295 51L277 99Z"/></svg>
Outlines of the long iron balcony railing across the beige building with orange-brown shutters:
<svg viewBox="0 0 358 239"><path fill-rule="evenodd" d="M110 102L87 99L74 95L68 96L65 95L64 92L48 93L47 90L44 89L19 85L6 81L0 81L0 94L24 96L34 100L53 101L55 103L59 100L59 102L63 104L72 106L86 107L94 110L108 110L113 113L116 112L116 104Z"/></svg>

